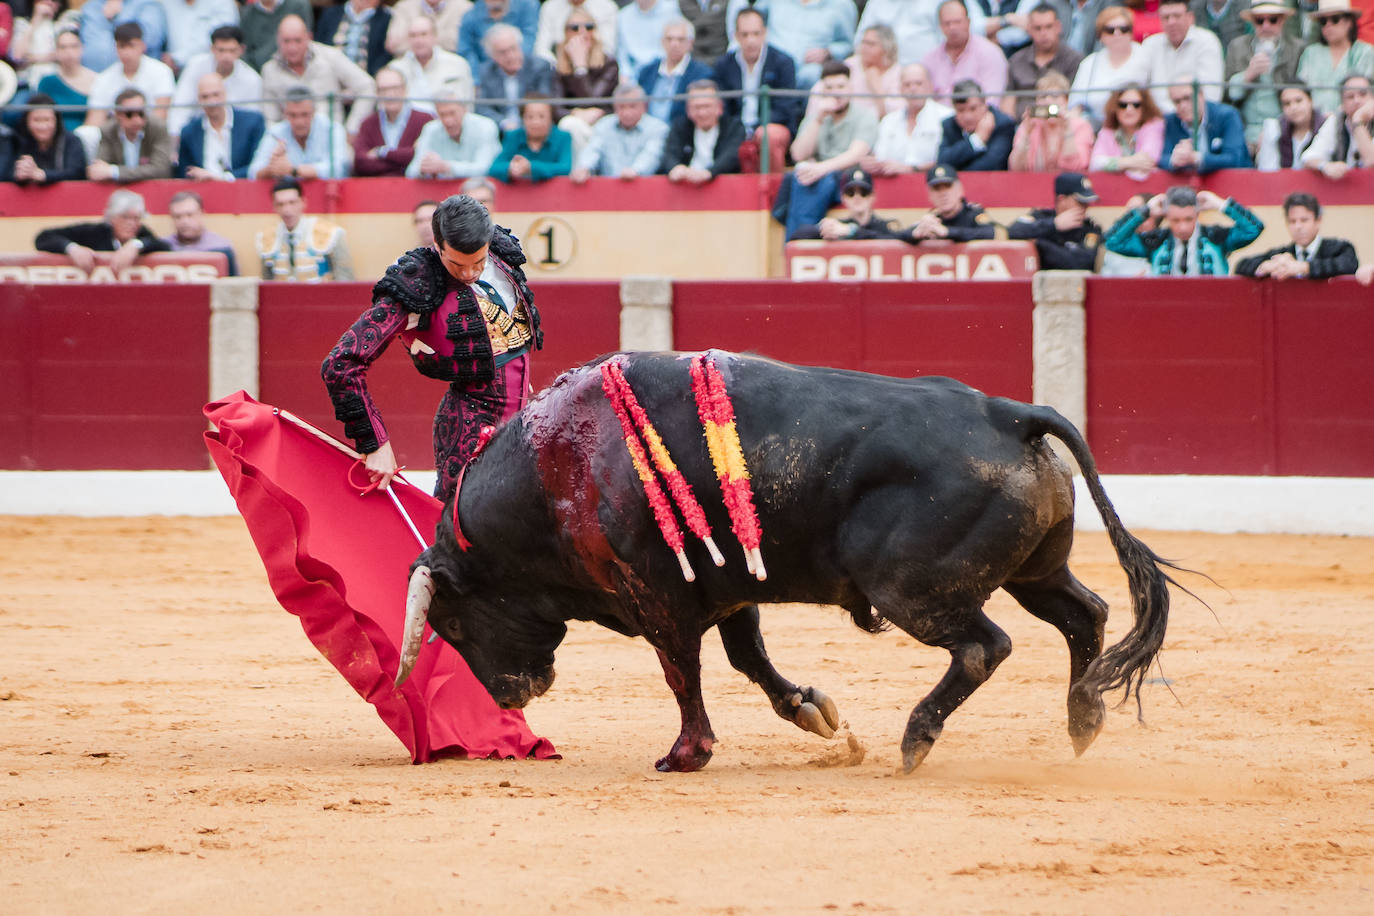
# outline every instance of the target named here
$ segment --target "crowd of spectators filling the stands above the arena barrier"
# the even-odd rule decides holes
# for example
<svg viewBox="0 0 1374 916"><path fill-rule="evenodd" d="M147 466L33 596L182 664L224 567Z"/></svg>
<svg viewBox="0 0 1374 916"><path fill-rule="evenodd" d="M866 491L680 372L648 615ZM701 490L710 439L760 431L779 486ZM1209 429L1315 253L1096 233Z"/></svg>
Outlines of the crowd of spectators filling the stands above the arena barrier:
<svg viewBox="0 0 1374 916"><path fill-rule="evenodd" d="M868 227L871 206L846 192L871 192L872 176L926 173L941 199L967 170L1340 180L1374 161L1371 5L7 0L0 180L262 179L276 203L283 183L301 198L350 174L697 185L767 168L786 172L774 216L787 238L841 232L835 205ZM949 220L907 236L951 238L981 214L947 203ZM1178 262L1167 214L1183 205L1143 203L1132 247L1153 232L1145 257ZM1245 222L1213 203L1190 206ZM1189 258L1205 268L1235 238L1198 236ZM319 261L262 244L279 273L300 272L291 251Z"/></svg>

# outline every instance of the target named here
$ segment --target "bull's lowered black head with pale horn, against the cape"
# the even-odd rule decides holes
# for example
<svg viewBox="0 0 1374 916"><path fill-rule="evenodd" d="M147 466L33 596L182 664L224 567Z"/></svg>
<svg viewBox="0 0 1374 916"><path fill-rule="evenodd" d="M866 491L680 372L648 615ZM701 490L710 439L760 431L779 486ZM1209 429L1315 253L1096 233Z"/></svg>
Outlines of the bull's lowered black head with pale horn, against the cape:
<svg viewBox="0 0 1374 916"><path fill-rule="evenodd" d="M522 606L514 597L521 593L518 582L477 588L464 585L467 578L460 578L456 567L433 548L415 560L396 685L409 677L429 621L458 650L497 706L522 709L552 685L554 650L566 626Z"/></svg>

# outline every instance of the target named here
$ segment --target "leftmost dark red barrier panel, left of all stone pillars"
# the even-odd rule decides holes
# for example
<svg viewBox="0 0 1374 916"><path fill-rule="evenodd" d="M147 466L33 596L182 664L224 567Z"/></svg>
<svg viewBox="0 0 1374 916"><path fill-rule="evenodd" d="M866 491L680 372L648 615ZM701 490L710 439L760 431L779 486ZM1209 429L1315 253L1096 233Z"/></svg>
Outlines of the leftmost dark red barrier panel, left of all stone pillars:
<svg viewBox="0 0 1374 916"><path fill-rule="evenodd" d="M207 467L207 286L5 286L0 467Z"/></svg>

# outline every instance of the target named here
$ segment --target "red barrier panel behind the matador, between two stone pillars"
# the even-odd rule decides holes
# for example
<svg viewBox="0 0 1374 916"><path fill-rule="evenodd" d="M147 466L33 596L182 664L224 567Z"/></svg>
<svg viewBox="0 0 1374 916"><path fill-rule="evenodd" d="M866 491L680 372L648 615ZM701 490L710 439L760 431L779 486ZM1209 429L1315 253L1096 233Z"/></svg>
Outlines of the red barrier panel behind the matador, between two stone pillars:
<svg viewBox="0 0 1374 916"><path fill-rule="evenodd" d="M320 364L339 335L371 302L368 283L308 286L264 283L258 297L261 400L284 407L342 437L342 424L320 382ZM606 282L540 282L536 290L544 349L534 354L534 390L563 369L585 363L620 341L620 286ZM392 347L368 372L372 393L401 464L434 467L434 408L444 383L415 371Z"/></svg>

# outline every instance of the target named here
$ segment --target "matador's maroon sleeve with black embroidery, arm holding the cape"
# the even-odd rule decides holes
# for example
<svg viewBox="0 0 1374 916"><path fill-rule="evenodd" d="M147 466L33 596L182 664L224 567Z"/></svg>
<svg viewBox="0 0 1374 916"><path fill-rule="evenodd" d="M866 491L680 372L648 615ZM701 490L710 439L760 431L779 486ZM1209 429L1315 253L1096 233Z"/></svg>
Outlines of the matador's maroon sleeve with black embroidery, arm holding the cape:
<svg viewBox="0 0 1374 916"><path fill-rule="evenodd" d="M320 367L320 378L334 402L334 417L344 424L344 435L353 439L363 455L379 449L386 441L382 415L367 390L367 369L397 334L405 330L409 313L397 302L379 298L353 323Z"/></svg>

